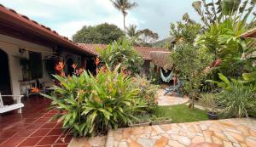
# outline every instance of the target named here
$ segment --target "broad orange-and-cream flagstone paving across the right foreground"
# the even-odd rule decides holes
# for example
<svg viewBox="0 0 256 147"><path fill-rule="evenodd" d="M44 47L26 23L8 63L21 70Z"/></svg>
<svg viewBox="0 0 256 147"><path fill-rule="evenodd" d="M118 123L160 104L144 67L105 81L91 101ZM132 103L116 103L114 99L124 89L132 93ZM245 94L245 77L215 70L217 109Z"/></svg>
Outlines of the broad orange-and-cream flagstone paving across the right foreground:
<svg viewBox="0 0 256 147"><path fill-rule="evenodd" d="M108 132L106 147L256 147L256 119L172 123Z"/></svg>

